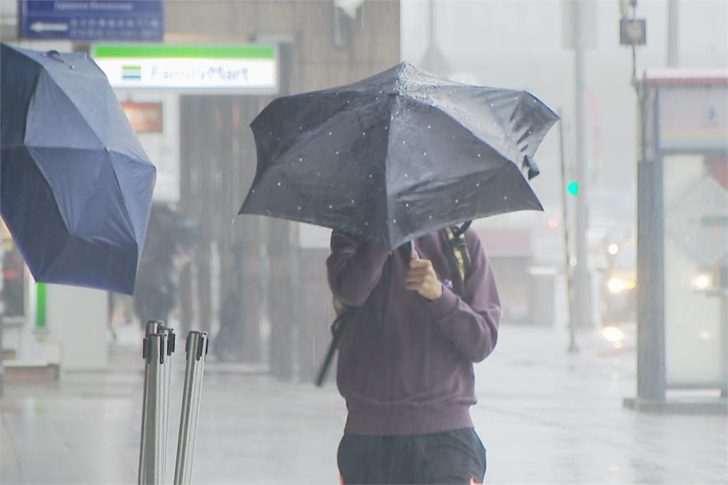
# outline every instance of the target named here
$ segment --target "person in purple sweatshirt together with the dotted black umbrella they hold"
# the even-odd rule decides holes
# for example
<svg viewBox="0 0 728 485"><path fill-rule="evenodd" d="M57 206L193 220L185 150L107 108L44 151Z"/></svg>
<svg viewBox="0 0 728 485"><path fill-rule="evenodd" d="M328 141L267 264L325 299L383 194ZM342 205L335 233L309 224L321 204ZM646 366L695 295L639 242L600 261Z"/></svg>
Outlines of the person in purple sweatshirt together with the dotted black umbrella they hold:
<svg viewBox="0 0 728 485"><path fill-rule="evenodd" d="M500 304L478 237L454 225L543 210L529 179L557 120L528 92L400 63L279 97L250 124L258 168L240 214L333 229L328 278L346 308L316 382L339 342L344 484L483 480L473 364L494 349Z"/></svg>

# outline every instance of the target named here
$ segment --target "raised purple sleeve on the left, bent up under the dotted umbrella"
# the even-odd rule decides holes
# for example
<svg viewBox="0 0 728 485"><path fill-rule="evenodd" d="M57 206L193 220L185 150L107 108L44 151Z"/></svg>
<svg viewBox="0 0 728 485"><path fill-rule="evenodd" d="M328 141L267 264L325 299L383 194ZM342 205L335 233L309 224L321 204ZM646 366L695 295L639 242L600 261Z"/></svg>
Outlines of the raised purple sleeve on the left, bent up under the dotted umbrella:
<svg viewBox="0 0 728 485"><path fill-rule="evenodd" d="M361 306L379 282L389 252L384 246L333 231L326 260L331 292L347 306Z"/></svg>

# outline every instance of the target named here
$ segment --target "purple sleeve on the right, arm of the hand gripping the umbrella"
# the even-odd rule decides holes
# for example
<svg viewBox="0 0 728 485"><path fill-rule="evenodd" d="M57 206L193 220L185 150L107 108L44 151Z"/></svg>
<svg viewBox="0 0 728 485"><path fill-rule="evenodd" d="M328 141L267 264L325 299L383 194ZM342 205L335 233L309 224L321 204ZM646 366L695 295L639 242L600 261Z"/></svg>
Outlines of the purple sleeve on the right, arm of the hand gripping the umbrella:
<svg viewBox="0 0 728 485"><path fill-rule="evenodd" d="M462 297L443 285L443 295L429 302L444 334L472 362L480 362L495 348L500 321L500 300L488 257L478 236L466 233L472 270Z"/></svg>

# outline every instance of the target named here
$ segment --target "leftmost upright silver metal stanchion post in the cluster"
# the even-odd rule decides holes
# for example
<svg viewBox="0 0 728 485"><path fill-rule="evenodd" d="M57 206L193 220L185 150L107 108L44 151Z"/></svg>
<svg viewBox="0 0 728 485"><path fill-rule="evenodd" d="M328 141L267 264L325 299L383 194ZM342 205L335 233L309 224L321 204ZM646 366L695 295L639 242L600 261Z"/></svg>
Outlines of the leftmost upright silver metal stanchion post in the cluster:
<svg viewBox="0 0 728 485"><path fill-rule="evenodd" d="M140 485L165 483L164 449L165 435L163 399L165 387L165 362L167 361L167 333L149 334L144 339L146 385L144 390L143 468L139 469Z"/></svg>

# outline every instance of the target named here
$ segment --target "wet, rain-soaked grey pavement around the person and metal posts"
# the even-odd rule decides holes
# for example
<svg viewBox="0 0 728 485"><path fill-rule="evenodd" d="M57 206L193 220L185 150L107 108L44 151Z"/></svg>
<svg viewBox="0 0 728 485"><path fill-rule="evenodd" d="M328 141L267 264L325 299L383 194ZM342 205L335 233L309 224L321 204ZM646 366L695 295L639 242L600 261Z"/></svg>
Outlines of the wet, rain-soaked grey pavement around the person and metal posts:
<svg viewBox="0 0 728 485"><path fill-rule="evenodd" d="M635 392L633 336L615 349L581 332L577 344L568 354L563 330L502 326L495 353L476 367L472 417L488 449L486 483L728 483L726 416L622 409ZM114 372L7 385L2 484L135 483L141 357L115 355ZM176 357L172 463L183 377ZM331 383L318 389L208 362L193 483L338 484L345 417Z"/></svg>

